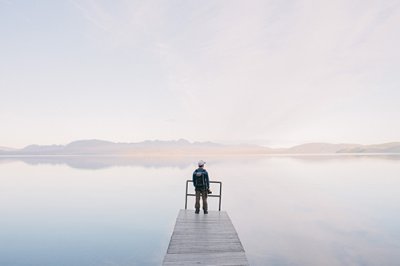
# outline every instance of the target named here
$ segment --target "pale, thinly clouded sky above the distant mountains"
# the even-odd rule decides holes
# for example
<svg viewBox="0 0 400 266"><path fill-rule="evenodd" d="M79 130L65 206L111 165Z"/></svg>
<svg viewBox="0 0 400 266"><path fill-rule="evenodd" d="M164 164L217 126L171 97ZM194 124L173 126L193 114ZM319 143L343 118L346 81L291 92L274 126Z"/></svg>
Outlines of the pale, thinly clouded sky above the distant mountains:
<svg viewBox="0 0 400 266"><path fill-rule="evenodd" d="M400 141L400 2L0 0L0 146Z"/></svg>

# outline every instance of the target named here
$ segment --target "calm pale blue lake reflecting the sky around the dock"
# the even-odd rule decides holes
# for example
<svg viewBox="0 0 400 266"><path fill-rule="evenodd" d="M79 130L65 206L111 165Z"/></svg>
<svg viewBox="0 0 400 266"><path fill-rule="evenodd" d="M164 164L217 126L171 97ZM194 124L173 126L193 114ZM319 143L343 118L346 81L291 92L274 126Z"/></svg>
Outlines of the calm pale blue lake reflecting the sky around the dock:
<svg viewBox="0 0 400 266"><path fill-rule="evenodd" d="M400 264L400 156L326 155L0 157L0 265L160 265L199 159L251 265Z"/></svg>

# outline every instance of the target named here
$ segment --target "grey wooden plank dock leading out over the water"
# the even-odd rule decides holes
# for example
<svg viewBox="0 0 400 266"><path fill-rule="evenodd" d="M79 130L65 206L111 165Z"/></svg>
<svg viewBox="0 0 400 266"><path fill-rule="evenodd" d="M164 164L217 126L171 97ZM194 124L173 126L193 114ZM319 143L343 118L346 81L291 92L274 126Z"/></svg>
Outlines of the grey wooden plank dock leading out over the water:
<svg viewBox="0 0 400 266"><path fill-rule="evenodd" d="M163 265L249 265L224 211L180 210Z"/></svg>

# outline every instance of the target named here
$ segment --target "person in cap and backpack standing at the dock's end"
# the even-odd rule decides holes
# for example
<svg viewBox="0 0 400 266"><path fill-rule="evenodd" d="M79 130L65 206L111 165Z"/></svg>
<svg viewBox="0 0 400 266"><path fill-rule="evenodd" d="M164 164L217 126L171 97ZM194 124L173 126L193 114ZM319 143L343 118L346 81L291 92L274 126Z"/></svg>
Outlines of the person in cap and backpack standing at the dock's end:
<svg viewBox="0 0 400 266"><path fill-rule="evenodd" d="M196 191L196 203L194 207L196 208L195 213L200 212L200 195L203 199L203 210L204 214L208 213L208 206L207 206L207 195L210 189L210 181L208 180L208 173L206 169L204 169L204 162L200 160L198 163L199 168L197 168L193 172L193 185Z"/></svg>

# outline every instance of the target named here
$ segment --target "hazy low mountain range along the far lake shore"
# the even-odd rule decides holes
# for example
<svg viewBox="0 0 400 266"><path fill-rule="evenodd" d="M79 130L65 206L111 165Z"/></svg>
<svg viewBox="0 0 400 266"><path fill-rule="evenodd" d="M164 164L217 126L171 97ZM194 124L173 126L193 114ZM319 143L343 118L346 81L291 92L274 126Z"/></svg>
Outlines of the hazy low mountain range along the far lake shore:
<svg viewBox="0 0 400 266"><path fill-rule="evenodd" d="M22 149L0 147L0 155L187 155L187 154L332 154L400 153L400 142L374 145L306 143L290 148L258 145L223 145L213 142L143 141L117 143L105 140L78 140L67 145L29 145Z"/></svg>

